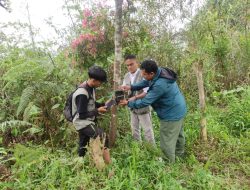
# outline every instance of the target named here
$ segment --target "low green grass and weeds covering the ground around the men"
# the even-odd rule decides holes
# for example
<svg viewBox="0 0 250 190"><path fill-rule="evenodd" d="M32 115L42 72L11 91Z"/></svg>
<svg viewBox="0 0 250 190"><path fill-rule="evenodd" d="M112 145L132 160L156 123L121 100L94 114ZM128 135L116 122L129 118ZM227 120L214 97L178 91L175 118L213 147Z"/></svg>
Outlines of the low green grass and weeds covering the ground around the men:
<svg viewBox="0 0 250 190"><path fill-rule="evenodd" d="M232 111L234 103L223 109L207 107L206 144L199 141L199 113L189 112L185 119L186 156L173 165L161 159L156 115L153 113L157 142L154 148L132 140L125 110L120 110L124 119L119 120L120 132L111 150L112 164L103 171L94 167L90 155L77 156L77 136L68 139L75 143L71 148L34 143L1 148L0 189L249 189L248 130L235 133L228 126L228 116L222 117ZM242 108L247 112L247 106ZM238 115L235 113L236 118ZM242 120L245 121L248 120Z"/></svg>

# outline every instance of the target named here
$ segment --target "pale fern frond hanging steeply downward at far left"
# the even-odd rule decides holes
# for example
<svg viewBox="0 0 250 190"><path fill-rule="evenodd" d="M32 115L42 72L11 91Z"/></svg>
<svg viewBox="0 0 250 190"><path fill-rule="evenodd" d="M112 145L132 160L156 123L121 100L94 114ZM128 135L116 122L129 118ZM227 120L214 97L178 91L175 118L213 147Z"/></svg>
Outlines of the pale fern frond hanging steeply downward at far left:
<svg viewBox="0 0 250 190"><path fill-rule="evenodd" d="M19 116L19 114L22 113L23 110L28 106L31 99L33 98L34 92L35 92L35 88L30 87L30 86L23 90L22 96L21 96L21 99L17 108L17 116Z"/></svg>

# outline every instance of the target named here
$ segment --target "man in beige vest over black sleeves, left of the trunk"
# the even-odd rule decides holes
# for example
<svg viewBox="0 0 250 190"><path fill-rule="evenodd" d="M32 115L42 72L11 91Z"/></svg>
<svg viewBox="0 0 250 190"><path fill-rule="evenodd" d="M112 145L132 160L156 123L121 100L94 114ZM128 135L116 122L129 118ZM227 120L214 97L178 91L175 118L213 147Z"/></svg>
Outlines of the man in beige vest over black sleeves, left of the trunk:
<svg viewBox="0 0 250 190"><path fill-rule="evenodd" d="M96 117L99 113L107 111L105 104L96 102L95 88L98 88L107 80L106 72L98 66L92 66L88 71L89 79L80 85L72 99L72 113L76 113L73 124L79 134L79 156L84 156L86 146L90 138L104 137L104 131L96 125ZM106 163L110 162L108 142L105 142L103 158Z"/></svg>

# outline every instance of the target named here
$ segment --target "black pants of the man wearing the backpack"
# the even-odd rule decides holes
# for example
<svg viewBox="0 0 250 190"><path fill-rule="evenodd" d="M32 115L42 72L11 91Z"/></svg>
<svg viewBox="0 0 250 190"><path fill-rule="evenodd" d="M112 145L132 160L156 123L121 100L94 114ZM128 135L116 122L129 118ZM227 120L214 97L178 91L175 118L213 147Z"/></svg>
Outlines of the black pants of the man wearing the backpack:
<svg viewBox="0 0 250 190"><path fill-rule="evenodd" d="M98 128L95 125L89 125L83 129L78 131L79 134L79 149L78 155L85 156L87 152L86 146L88 145L90 138L95 139L96 137L100 137L101 139L104 137L104 131L101 128ZM108 147L108 140L107 137L105 139L105 147Z"/></svg>

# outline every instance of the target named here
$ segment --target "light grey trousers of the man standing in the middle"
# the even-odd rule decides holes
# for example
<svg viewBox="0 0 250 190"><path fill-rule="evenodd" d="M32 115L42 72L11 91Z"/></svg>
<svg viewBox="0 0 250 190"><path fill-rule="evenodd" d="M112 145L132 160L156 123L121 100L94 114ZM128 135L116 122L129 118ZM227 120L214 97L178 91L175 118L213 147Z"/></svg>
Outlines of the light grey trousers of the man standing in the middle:
<svg viewBox="0 0 250 190"><path fill-rule="evenodd" d="M141 141L141 127L144 132L146 142L155 145L154 132L151 120L151 114L135 114L130 111L132 136L135 140Z"/></svg>

